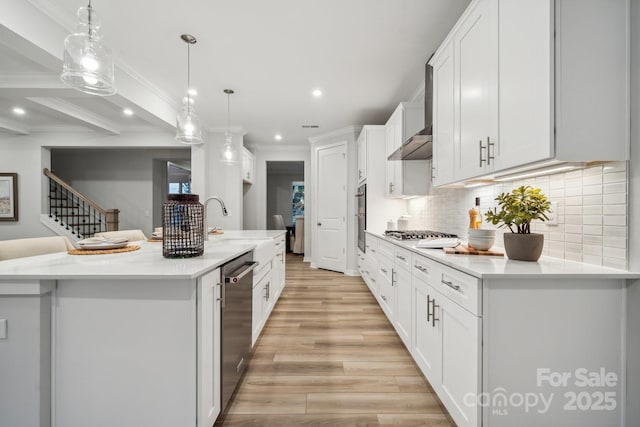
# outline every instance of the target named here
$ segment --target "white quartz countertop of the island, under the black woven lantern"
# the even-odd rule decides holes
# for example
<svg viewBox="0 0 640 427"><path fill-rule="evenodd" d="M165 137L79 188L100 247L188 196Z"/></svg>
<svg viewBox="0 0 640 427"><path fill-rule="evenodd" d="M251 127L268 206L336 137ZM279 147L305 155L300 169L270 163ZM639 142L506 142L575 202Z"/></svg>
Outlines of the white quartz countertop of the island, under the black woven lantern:
<svg viewBox="0 0 640 427"><path fill-rule="evenodd" d="M0 261L0 281L33 279L194 279L253 250L259 240L274 239L284 231L225 231L210 236L204 255L169 259L161 242L131 242L140 249L105 255L70 255L59 252ZM225 238L225 236L227 236ZM252 243L252 240L256 240Z"/></svg>

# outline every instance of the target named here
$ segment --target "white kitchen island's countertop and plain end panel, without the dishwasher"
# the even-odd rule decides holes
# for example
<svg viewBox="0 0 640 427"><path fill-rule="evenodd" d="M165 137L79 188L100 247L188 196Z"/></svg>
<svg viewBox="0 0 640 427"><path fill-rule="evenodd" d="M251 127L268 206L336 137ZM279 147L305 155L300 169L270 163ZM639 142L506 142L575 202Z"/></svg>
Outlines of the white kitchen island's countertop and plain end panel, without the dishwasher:
<svg viewBox="0 0 640 427"><path fill-rule="evenodd" d="M283 235L229 233L187 259L133 242L0 262L0 425L212 425L219 268Z"/></svg>

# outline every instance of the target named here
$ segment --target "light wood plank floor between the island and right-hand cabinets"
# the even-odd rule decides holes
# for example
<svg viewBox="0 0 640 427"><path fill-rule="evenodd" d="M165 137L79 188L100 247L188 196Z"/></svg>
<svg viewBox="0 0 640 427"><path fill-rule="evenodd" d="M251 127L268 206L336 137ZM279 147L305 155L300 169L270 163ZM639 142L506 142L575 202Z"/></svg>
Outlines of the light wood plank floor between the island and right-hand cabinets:
<svg viewBox="0 0 640 427"><path fill-rule="evenodd" d="M287 256L287 285L216 426L454 426L359 277Z"/></svg>

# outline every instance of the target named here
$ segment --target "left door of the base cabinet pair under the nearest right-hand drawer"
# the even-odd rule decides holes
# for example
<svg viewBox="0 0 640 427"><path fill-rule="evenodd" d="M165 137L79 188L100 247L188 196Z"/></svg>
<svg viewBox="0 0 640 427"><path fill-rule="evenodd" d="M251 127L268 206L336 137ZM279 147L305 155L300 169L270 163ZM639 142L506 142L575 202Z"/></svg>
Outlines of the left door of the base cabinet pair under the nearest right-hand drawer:
<svg viewBox="0 0 640 427"><path fill-rule="evenodd" d="M412 277L413 347L411 354L436 392L439 391L442 370L442 331L440 322L431 317L431 300L437 292L427 283Z"/></svg>

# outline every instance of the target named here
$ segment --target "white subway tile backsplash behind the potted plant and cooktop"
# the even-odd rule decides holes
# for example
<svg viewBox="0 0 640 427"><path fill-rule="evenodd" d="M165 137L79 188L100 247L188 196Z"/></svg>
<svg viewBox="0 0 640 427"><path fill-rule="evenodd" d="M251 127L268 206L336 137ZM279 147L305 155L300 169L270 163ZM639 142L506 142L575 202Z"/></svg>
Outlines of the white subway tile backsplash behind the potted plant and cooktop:
<svg viewBox="0 0 640 427"><path fill-rule="evenodd" d="M472 189L434 189L431 195L407 201L407 212L417 228L467 237L468 210L480 197L484 214L497 206L496 196L520 185L541 188L558 202L557 225L534 222L532 231L545 235L543 254L557 258L626 268L627 165L612 162L583 170L497 183ZM482 224L484 228L495 228ZM508 229L498 229L496 242Z"/></svg>

